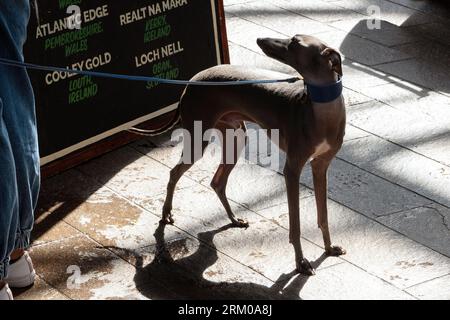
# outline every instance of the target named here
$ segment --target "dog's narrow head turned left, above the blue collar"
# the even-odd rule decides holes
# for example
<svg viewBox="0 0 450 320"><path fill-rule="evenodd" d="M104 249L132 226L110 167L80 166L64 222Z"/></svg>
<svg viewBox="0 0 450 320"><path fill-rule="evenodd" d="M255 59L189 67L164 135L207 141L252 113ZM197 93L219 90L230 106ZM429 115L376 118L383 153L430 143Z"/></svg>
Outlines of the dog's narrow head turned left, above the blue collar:
<svg viewBox="0 0 450 320"><path fill-rule="evenodd" d="M342 76L339 52L313 36L259 38L256 42L267 56L293 67L305 79L328 81L334 79L336 73Z"/></svg>

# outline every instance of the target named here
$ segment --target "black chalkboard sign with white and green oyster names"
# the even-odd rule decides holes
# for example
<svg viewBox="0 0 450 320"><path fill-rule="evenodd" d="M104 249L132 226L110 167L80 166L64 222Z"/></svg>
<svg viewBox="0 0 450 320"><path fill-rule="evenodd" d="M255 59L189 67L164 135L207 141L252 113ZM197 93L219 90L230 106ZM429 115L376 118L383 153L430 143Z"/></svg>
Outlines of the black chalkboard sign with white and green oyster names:
<svg viewBox="0 0 450 320"><path fill-rule="evenodd" d="M38 0L25 60L189 79L223 62L219 0ZM223 11L221 11L223 13ZM42 164L176 107L184 88L30 71Z"/></svg>

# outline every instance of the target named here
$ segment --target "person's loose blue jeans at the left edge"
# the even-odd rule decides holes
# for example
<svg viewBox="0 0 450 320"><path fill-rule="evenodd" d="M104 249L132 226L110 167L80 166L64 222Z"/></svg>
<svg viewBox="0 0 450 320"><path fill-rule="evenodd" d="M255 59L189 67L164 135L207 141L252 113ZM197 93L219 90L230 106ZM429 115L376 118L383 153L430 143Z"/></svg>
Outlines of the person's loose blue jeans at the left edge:
<svg viewBox="0 0 450 320"><path fill-rule="evenodd" d="M29 0L0 0L0 57L23 60ZM0 65L0 279L9 255L27 248L39 192L33 89L27 71Z"/></svg>

